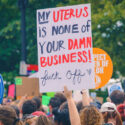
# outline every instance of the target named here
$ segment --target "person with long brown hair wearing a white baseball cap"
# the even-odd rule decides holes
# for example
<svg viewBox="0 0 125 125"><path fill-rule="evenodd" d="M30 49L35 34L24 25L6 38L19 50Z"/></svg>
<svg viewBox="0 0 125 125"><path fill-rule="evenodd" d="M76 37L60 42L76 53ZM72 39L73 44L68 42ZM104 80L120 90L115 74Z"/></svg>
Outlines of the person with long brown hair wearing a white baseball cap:
<svg viewBox="0 0 125 125"><path fill-rule="evenodd" d="M122 120L115 104L111 102L102 104L100 112L103 115L104 123L110 125L122 125Z"/></svg>

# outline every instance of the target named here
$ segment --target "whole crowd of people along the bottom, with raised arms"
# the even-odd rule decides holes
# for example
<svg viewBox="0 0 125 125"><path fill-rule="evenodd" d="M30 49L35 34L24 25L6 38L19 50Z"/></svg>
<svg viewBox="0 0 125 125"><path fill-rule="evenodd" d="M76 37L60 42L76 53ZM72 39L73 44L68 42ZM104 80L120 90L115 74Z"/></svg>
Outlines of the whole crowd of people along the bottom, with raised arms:
<svg viewBox="0 0 125 125"><path fill-rule="evenodd" d="M125 125L125 93L115 90L107 102L92 100L82 90L82 100L75 102L72 91L56 93L48 106L41 97L3 100L0 105L0 125Z"/></svg>

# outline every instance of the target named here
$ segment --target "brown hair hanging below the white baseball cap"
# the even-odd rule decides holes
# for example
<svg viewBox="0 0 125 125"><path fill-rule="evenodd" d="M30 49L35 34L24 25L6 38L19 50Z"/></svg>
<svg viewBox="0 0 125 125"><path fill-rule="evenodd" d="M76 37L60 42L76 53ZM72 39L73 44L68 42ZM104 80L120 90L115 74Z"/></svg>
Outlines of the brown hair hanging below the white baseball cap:
<svg viewBox="0 0 125 125"><path fill-rule="evenodd" d="M114 119L116 121L116 125L122 125L122 120L121 120L120 114L117 111L104 112L102 114L103 114L103 118L104 118L105 123L108 122L108 119Z"/></svg>

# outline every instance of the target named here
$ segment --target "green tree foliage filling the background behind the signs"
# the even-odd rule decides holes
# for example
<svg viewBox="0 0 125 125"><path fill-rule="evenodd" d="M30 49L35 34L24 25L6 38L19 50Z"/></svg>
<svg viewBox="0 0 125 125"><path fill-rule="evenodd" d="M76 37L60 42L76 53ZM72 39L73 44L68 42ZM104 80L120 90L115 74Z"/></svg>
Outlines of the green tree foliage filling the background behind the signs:
<svg viewBox="0 0 125 125"><path fill-rule="evenodd" d="M111 56L114 74L125 75L125 0L29 0L26 7L27 63L37 64L36 10L91 3L94 47ZM7 81L19 75L21 60L20 10L16 0L0 0L0 73Z"/></svg>

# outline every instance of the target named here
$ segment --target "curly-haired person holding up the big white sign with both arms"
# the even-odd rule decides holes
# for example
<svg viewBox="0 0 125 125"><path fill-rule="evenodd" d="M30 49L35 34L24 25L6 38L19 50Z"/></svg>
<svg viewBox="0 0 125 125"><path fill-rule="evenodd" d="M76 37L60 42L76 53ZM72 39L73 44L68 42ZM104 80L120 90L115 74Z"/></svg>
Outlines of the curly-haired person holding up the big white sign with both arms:
<svg viewBox="0 0 125 125"><path fill-rule="evenodd" d="M86 107L80 112L80 116L72 98L72 92L66 86L64 86L64 94L68 101L71 125L102 125L102 115L96 107L90 106L87 90L82 91L82 102Z"/></svg>

